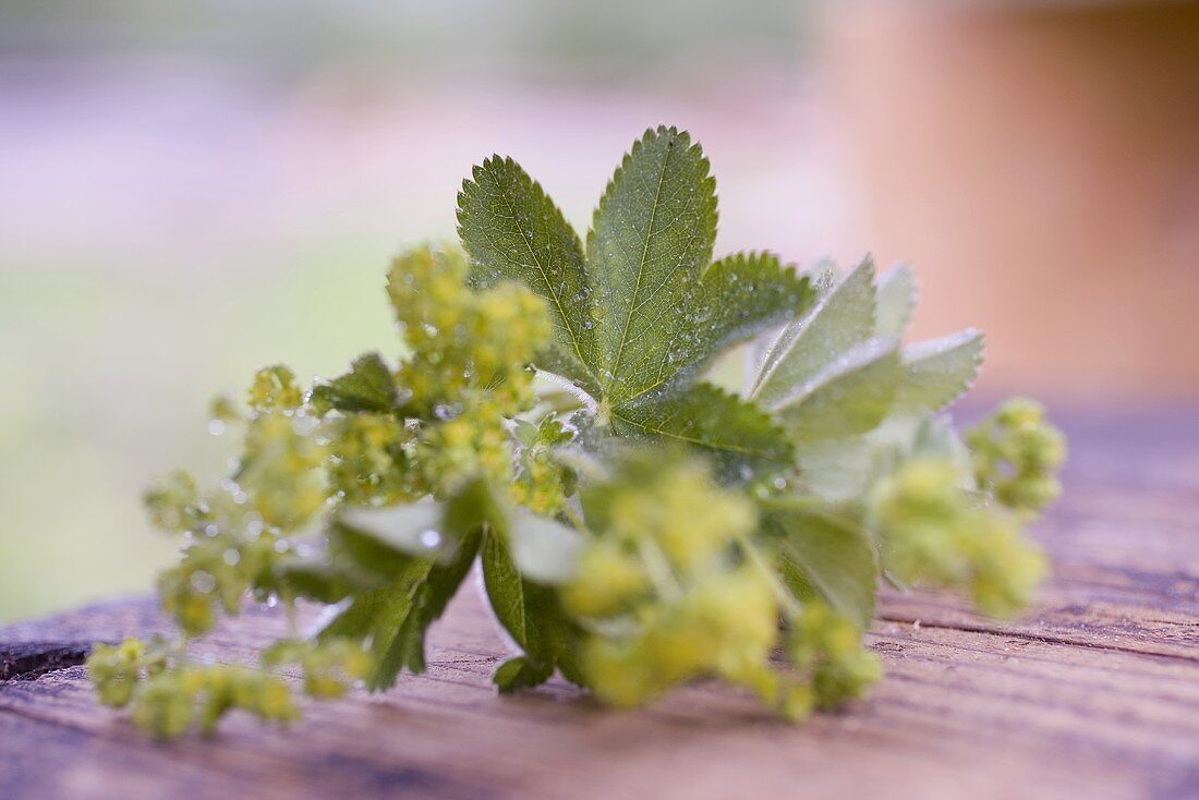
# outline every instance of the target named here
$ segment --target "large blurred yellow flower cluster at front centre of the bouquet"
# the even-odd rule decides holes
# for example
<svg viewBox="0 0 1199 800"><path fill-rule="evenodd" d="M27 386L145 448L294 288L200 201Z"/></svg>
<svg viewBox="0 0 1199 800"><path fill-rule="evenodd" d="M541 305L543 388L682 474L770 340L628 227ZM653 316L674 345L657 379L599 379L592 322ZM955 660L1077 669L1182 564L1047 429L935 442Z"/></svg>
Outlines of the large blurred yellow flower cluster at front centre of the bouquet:
<svg viewBox="0 0 1199 800"><path fill-rule="evenodd" d="M591 631L582 663L596 694L637 706L718 675L776 703L778 606L736 552L757 527L753 504L717 487L700 462L645 456L589 495L595 537L562 601Z"/></svg>

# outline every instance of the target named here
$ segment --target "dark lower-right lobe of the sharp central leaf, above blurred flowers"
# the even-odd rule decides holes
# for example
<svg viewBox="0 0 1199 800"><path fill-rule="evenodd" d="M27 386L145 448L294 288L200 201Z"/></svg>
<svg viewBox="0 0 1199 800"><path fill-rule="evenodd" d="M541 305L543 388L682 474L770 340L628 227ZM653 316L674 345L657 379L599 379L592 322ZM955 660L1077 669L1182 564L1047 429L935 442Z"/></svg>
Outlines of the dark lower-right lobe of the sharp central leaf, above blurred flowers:
<svg viewBox="0 0 1199 800"><path fill-rule="evenodd" d="M704 447L727 483L760 477L791 461L787 437L769 416L709 384L697 384L661 402L613 409L611 427L629 438Z"/></svg>

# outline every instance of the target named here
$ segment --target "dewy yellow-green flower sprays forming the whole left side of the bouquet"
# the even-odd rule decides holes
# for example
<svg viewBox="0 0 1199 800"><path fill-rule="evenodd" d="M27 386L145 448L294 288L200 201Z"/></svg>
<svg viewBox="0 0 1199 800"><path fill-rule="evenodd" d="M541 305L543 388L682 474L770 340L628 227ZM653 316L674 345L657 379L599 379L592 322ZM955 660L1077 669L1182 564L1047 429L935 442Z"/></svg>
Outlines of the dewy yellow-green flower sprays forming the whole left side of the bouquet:
<svg viewBox="0 0 1199 800"><path fill-rule="evenodd" d="M288 367L263 368L247 410L228 398L213 403L213 431L236 426L243 433L230 477L201 489L177 471L146 492L156 527L187 537L181 561L158 579L162 607L183 643L211 631L218 613L236 614L249 595L291 603L291 537L311 537L313 523L337 505L411 503L474 477L517 483L511 428L534 403L526 365L550 336L542 301L517 284L475 291L457 251L429 248L396 260L388 294L406 347L398 369L363 356L318 398L306 396ZM349 404L339 405L343 398ZM530 453L526 463L535 482L549 482L542 456ZM560 510L560 497L538 501L543 494L529 499L547 512ZM101 645L90 662L101 696L115 705L132 702L134 720L158 735L193 723L207 729L230 708L279 721L294 716L276 679L195 664L182 648L167 654L135 642ZM357 643L336 639L287 639L265 662L297 664L314 697L344 693L372 666Z"/></svg>

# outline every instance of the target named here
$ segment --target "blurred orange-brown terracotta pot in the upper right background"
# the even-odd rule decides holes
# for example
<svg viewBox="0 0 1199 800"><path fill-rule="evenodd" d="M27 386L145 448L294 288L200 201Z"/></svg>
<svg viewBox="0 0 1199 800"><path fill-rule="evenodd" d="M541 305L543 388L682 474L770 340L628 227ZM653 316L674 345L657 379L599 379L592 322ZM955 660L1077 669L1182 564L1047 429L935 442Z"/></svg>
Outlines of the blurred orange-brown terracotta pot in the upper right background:
<svg viewBox="0 0 1199 800"><path fill-rule="evenodd" d="M916 332L983 387L1199 398L1199 4L829 0L823 64Z"/></svg>

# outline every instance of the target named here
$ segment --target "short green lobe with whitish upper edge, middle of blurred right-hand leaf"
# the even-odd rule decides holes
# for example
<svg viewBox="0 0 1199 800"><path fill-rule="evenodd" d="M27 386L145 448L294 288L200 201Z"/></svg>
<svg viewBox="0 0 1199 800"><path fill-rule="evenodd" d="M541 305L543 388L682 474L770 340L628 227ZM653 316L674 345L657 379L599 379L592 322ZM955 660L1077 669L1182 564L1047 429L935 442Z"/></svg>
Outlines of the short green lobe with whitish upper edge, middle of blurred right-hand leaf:
<svg viewBox="0 0 1199 800"><path fill-rule="evenodd" d="M864 433L891 411L899 377L898 342L870 339L779 398L778 419L796 441Z"/></svg>

